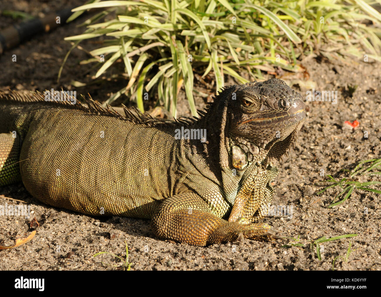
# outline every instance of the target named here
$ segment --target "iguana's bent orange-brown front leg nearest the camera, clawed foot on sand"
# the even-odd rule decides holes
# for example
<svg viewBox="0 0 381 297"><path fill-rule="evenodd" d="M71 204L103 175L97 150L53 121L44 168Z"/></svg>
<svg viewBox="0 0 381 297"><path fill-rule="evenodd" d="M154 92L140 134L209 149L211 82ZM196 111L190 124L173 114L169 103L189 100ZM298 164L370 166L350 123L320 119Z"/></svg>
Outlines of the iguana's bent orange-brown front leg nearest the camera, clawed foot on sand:
<svg viewBox="0 0 381 297"><path fill-rule="evenodd" d="M238 239L278 239L266 223L227 222L211 213L207 202L195 193L165 199L151 221L155 235L195 246Z"/></svg>

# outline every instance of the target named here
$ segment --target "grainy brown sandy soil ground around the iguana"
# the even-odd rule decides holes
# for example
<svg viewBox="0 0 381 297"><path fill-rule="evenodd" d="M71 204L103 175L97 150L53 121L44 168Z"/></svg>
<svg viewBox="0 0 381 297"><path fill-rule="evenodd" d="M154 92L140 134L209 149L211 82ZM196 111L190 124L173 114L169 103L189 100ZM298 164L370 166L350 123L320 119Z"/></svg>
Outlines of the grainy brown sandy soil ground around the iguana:
<svg viewBox="0 0 381 297"><path fill-rule="evenodd" d="M1 1L0 9L38 16L41 11L48 13L63 8L65 2ZM82 1L67 3L75 6ZM61 81L56 82L59 67L70 48L70 43L63 38L80 34L83 29L75 26L82 21L83 18L6 51L0 56L0 88L43 91L62 87L70 90L74 88L70 84L72 79L90 81L89 66L79 65L79 61L88 56L83 51L74 50ZM0 29L13 22L11 18L1 16ZM86 49L99 46L92 40L81 45ZM14 54L17 62L12 62ZM40 226L32 241L0 251L0 270L122 269L122 262L111 255L95 258L93 255L106 251L125 257L126 244L131 270L331 270L335 258L335 270L380 270L380 196L358 190L343 204L327 208L339 189L331 188L317 195L322 186L316 185L327 179L320 175L322 170L324 174L340 179L347 176L341 169L352 170L361 160L380 157L380 65L349 59L330 62L320 57L306 58L301 65L306 68L303 74L283 73L279 78L303 97L312 88L337 91L338 102L306 102L307 120L299 132L298 144L291 149L290 157L278 164L280 173L274 182L272 204L292 206L293 216L268 217L264 222L280 230L287 239L273 242L246 240L208 247L158 240L150 231L148 220L98 218L56 209L31 197L20 183L0 187L0 205L24 205L13 199L26 202L30 205L31 217L36 217ZM266 78L271 77L267 75ZM104 101L125 84L120 80L105 81L75 89ZM354 85L358 87L351 96L348 86ZM202 84L199 88L202 89ZM213 90L204 86L202 92L212 95ZM181 93L179 115L189 115L184 98ZM204 99L195 99L199 108L205 106ZM360 125L355 130L346 129L346 120L358 120ZM364 137L365 131L368 138ZM362 181L368 180L376 178L362 178ZM30 219L24 217L0 216L0 245L12 245L14 238L30 234L29 222ZM319 260L311 242L322 236L331 238L344 234L358 236L322 244ZM295 241L298 237L299 241ZM350 243L352 252L346 260Z"/></svg>

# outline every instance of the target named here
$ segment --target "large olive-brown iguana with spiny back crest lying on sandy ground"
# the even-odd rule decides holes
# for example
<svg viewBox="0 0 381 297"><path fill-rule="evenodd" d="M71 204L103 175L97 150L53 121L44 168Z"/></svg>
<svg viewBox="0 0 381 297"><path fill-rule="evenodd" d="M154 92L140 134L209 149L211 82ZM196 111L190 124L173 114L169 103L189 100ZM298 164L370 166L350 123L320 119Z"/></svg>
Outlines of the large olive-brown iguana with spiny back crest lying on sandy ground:
<svg viewBox="0 0 381 297"><path fill-rule="evenodd" d="M272 160L305 119L282 80L225 87L199 118L178 120L46 92L0 92L0 185L22 180L38 200L84 214L150 218L157 237L196 246L280 238L252 222L274 193Z"/></svg>

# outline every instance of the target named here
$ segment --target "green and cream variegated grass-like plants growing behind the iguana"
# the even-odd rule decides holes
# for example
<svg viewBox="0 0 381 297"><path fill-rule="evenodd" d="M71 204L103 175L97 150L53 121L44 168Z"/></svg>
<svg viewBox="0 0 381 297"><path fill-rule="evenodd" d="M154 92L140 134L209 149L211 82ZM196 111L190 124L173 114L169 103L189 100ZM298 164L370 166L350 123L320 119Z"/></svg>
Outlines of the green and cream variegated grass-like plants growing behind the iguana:
<svg viewBox="0 0 381 297"><path fill-rule="evenodd" d="M195 73L200 73L199 79L213 74L209 81L215 82L213 88L218 91L224 86L224 75L246 83L276 67L299 71L298 59L308 55L329 59L367 55L380 60L381 14L371 6L379 3L90 0L75 8L69 21L85 10L104 9L82 24L87 27L83 34L66 40L73 43L73 49L84 39L107 36L104 46L88 52L91 58L82 61L94 63L94 79L101 75L122 79L123 88L107 103L125 94L144 111L143 100L148 96L176 116L178 93L184 87L189 108L196 115ZM116 61L124 63L124 72L113 69L110 74Z"/></svg>

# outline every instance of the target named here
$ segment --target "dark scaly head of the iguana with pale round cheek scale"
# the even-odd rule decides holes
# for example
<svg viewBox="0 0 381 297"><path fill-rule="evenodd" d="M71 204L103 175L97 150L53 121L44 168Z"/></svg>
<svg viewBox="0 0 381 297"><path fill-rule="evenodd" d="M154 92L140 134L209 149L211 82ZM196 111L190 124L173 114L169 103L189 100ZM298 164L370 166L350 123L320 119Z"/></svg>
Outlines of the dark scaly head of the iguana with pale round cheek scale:
<svg viewBox="0 0 381 297"><path fill-rule="evenodd" d="M297 139L305 117L301 95L280 79L232 86L227 106L232 165L244 169L280 158Z"/></svg>

